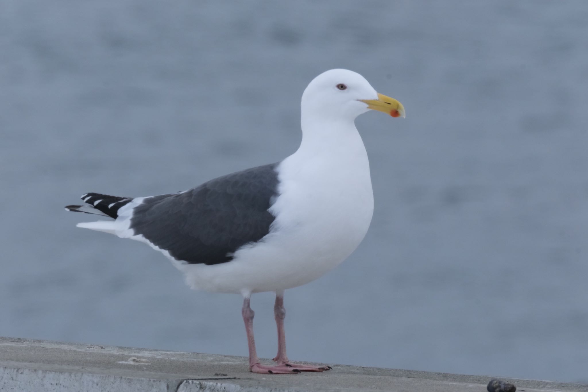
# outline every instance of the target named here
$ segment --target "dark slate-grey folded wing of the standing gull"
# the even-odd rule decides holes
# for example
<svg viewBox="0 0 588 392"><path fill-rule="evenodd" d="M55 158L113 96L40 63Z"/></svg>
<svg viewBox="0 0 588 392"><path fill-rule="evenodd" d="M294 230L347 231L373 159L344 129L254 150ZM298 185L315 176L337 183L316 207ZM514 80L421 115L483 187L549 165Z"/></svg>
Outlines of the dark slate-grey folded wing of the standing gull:
<svg viewBox="0 0 588 392"><path fill-rule="evenodd" d="M133 210L135 234L189 264L232 260L239 247L269 233L278 195L277 164L218 177L173 195L153 196Z"/></svg>

